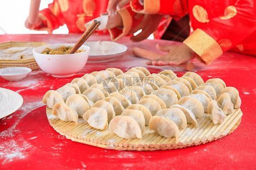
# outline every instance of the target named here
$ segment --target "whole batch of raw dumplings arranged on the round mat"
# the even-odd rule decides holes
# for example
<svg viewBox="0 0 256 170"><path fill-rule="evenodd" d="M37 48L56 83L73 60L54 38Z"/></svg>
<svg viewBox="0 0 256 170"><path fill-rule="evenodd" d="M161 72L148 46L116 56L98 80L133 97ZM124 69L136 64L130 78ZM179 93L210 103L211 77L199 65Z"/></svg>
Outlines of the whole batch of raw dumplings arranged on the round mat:
<svg viewBox="0 0 256 170"><path fill-rule="evenodd" d="M165 138L179 138L187 124L210 116L214 124L241 106L239 92L219 78L206 82L194 72L177 77L164 70L150 74L143 67L123 73L108 68L75 78L49 90L43 103L63 121L82 117L98 130L111 130L125 139L142 138L148 126Z"/></svg>

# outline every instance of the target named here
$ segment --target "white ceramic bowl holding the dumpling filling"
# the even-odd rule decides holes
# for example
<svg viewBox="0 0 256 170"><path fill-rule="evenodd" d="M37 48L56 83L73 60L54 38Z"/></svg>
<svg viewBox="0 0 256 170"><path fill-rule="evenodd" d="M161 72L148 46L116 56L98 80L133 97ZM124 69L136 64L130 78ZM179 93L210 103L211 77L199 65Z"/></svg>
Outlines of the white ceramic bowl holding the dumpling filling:
<svg viewBox="0 0 256 170"><path fill-rule="evenodd" d="M90 47L82 45L79 50L85 50L81 53L66 55L47 55L41 54L46 48L56 49L60 46L74 46L75 44L51 44L43 45L33 49L33 54L37 64L46 73L53 77L70 77L82 70L87 62Z"/></svg>

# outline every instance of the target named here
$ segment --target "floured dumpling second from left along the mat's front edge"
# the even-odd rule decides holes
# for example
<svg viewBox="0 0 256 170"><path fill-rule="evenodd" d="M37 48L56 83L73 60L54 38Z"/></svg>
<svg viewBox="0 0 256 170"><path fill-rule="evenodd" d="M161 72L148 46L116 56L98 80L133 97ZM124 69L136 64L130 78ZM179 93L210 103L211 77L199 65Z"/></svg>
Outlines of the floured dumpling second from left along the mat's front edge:
<svg viewBox="0 0 256 170"><path fill-rule="evenodd" d="M95 129L108 129L108 113L105 109L93 107L82 116L87 123Z"/></svg>

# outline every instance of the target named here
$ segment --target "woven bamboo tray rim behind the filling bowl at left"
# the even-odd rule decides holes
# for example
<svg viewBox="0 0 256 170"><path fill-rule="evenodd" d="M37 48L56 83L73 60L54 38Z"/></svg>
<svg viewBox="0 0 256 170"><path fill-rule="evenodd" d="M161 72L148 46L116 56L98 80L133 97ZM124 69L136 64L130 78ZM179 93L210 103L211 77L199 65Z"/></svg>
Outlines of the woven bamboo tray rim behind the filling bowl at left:
<svg viewBox="0 0 256 170"><path fill-rule="evenodd" d="M10 47L37 47L40 45L46 45L45 42L19 42L19 41L8 41L0 44L0 50ZM0 69L5 67L29 67L31 70L39 69L39 66L36 63L34 58L20 59L20 60L8 60L0 59Z"/></svg>

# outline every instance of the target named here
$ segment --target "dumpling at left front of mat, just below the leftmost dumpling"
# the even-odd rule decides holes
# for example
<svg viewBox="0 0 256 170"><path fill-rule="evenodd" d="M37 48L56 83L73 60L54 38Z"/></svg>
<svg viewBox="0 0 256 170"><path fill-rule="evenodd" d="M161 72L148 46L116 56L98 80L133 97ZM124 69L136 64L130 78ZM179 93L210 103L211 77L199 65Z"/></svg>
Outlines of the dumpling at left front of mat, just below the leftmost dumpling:
<svg viewBox="0 0 256 170"><path fill-rule="evenodd" d="M75 122L77 124L78 115L76 110L69 108L65 103L57 103L52 108L52 115L63 121Z"/></svg>

